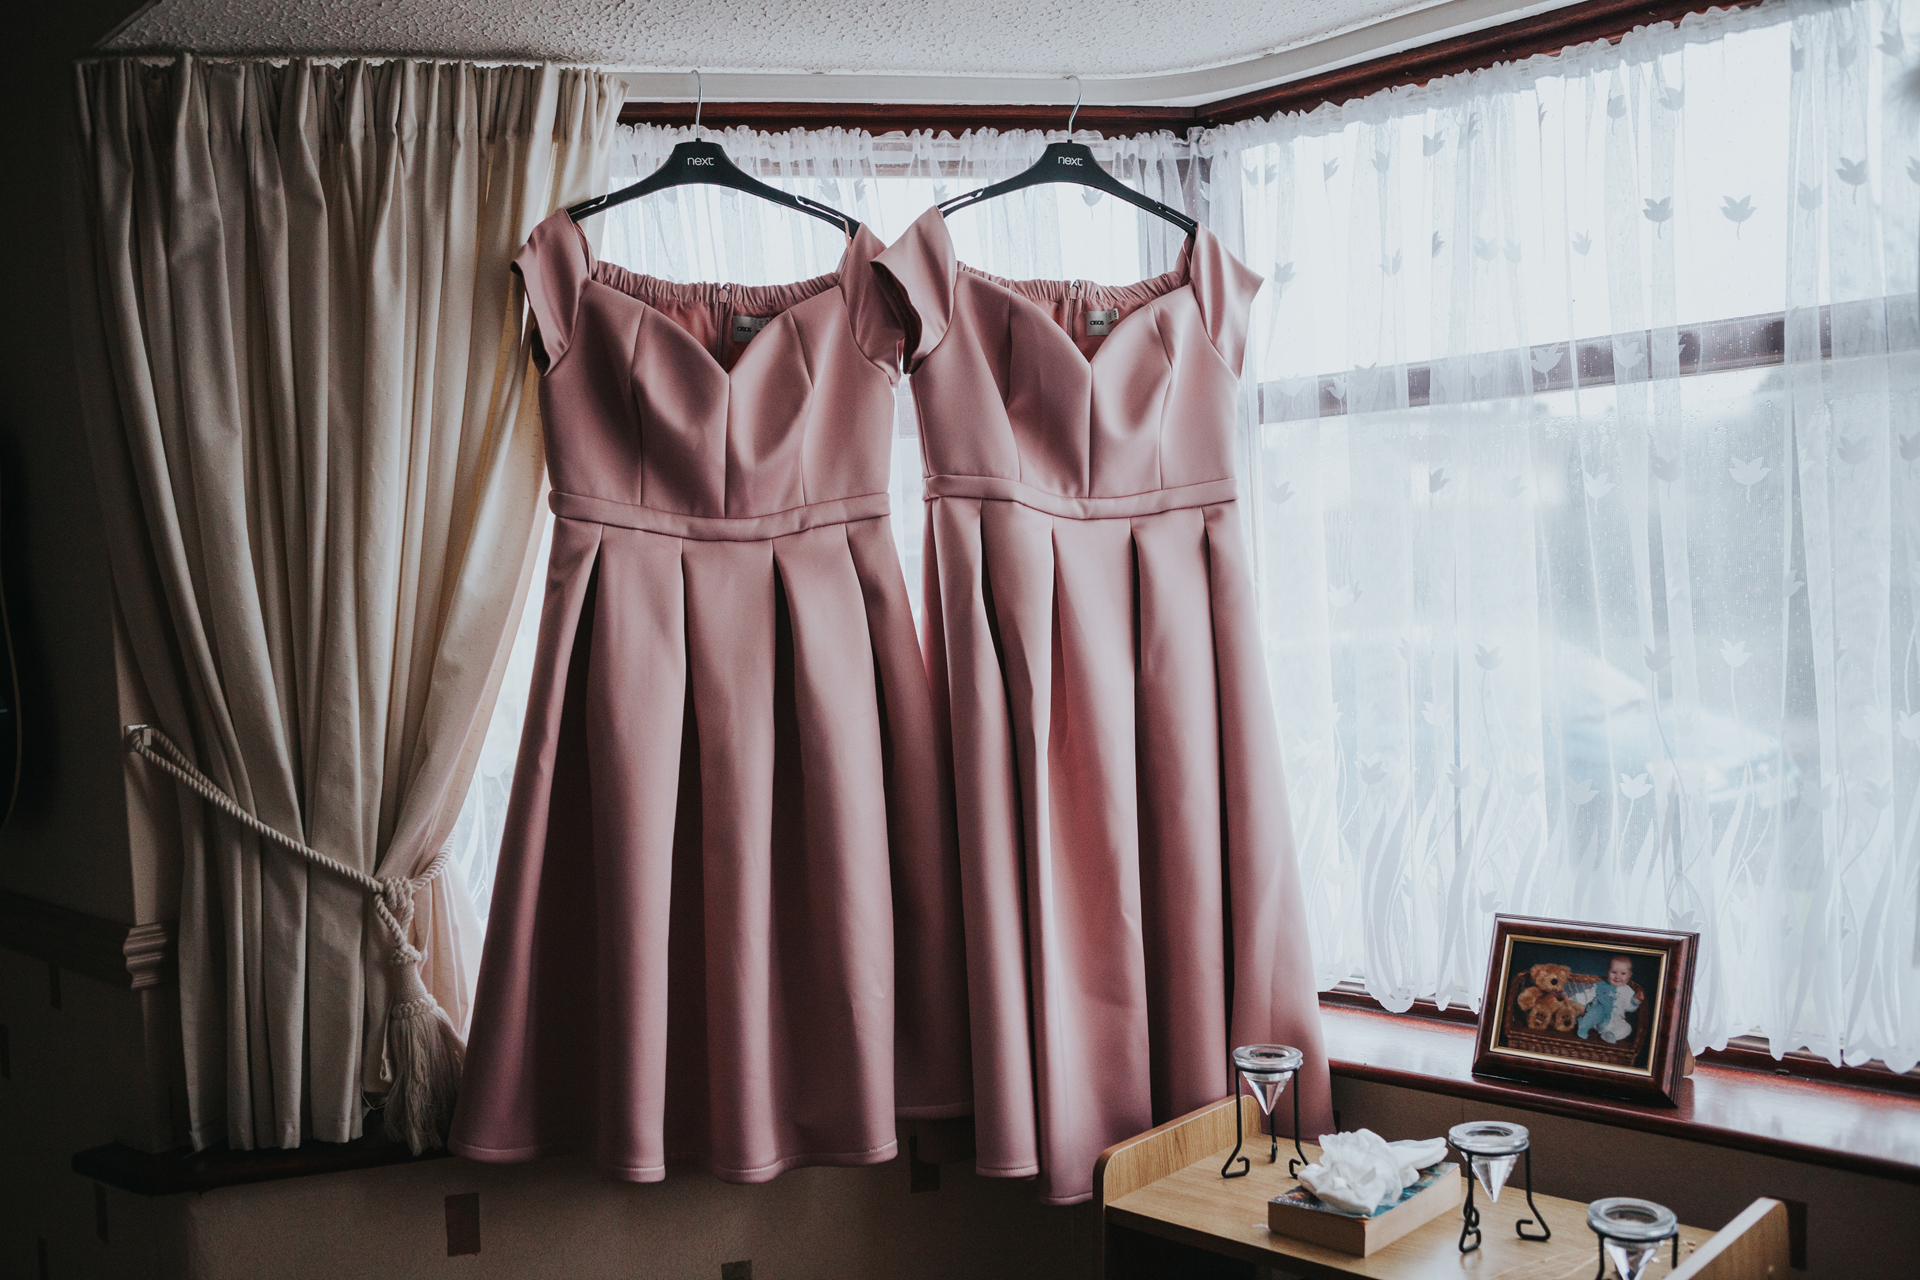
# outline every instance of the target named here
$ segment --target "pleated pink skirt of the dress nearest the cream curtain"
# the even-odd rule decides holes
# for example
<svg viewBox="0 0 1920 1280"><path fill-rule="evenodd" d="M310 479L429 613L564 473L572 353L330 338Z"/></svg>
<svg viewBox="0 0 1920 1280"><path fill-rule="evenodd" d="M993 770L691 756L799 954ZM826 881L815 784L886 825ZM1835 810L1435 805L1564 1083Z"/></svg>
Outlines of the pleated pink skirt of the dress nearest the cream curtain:
<svg viewBox="0 0 1920 1280"><path fill-rule="evenodd" d="M945 779L885 516L559 518L453 1150L758 1182L970 1111Z"/></svg>

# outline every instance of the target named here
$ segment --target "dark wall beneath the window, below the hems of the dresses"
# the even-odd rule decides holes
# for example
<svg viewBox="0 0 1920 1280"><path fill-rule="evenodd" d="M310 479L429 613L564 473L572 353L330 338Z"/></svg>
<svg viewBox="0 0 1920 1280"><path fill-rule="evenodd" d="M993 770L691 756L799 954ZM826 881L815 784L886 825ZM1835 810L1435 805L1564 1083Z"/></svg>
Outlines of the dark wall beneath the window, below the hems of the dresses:
<svg viewBox="0 0 1920 1280"><path fill-rule="evenodd" d="M941 1182L908 1192L904 1161L797 1169L762 1186L693 1173L634 1186L586 1161L438 1159L177 1197L179 1247L196 1280L722 1280L739 1261L753 1263L753 1280L1083 1274L1085 1211L1048 1209L1027 1182L958 1165ZM447 1257L445 1197L468 1192L480 1196L480 1253Z"/></svg>

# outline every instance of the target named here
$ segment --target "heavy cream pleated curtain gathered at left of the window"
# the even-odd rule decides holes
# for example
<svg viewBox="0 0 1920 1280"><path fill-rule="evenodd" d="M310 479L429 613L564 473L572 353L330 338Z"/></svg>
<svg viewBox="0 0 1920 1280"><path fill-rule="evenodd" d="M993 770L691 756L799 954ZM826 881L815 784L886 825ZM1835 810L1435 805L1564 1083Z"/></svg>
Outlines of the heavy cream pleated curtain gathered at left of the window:
<svg viewBox="0 0 1920 1280"><path fill-rule="evenodd" d="M367 875L434 858L480 750L543 487L507 263L605 182L618 104L553 67L79 69L81 380L138 674L221 789ZM372 900L184 800L194 1146L359 1136ZM470 904L438 879L415 912L465 1025Z"/></svg>

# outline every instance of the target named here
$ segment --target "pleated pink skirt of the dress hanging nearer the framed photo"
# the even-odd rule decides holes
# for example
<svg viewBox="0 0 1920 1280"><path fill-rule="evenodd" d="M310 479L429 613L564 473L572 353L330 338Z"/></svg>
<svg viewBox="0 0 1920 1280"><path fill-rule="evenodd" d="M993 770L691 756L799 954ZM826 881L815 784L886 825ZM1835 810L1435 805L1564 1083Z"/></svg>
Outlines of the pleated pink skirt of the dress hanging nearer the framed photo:
<svg viewBox="0 0 1920 1280"><path fill-rule="evenodd" d="M1306 1050L1302 1123L1327 1132L1235 503L1068 518L937 495L925 545L979 1171L1087 1199L1104 1148L1233 1092L1235 1044Z"/></svg>

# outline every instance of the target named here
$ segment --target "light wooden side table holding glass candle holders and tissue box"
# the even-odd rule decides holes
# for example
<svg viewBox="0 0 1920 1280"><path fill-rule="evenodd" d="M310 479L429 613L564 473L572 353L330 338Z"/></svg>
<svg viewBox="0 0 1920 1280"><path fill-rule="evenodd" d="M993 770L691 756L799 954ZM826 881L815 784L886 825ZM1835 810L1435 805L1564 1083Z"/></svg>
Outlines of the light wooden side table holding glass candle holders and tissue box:
<svg viewBox="0 0 1920 1280"><path fill-rule="evenodd" d="M1260 1132L1260 1107L1240 1098L1246 1132ZM1304 1240L1267 1230L1267 1201L1298 1186L1286 1176L1286 1161L1265 1163L1254 1151L1252 1173L1221 1178L1219 1169L1233 1148L1235 1100L1221 1100L1190 1115L1169 1121L1137 1138L1119 1142L1094 1167L1094 1199L1102 1213L1100 1276L1121 1274L1116 1228L1131 1228L1196 1249L1269 1267L1294 1276L1371 1276L1373 1280L1428 1280L1480 1276L1500 1280L1584 1280L1599 1265L1599 1244L1586 1226L1586 1205L1557 1196L1534 1194L1534 1203L1553 1238L1528 1242L1513 1224L1526 1217L1524 1196L1501 1196L1498 1203L1480 1197L1484 1244L1475 1253L1459 1251L1459 1213L1444 1213L1409 1232L1373 1257L1336 1253ZM1258 1144L1250 1144L1254 1150ZM1306 1148L1309 1159L1319 1148ZM1788 1272L1786 1207L1757 1199L1745 1213L1715 1234L1697 1226L1680 1228L1680 1267L1668 1270L1670 1245L1651 1276L1670 1280L1764 1280Z"/></svg>

